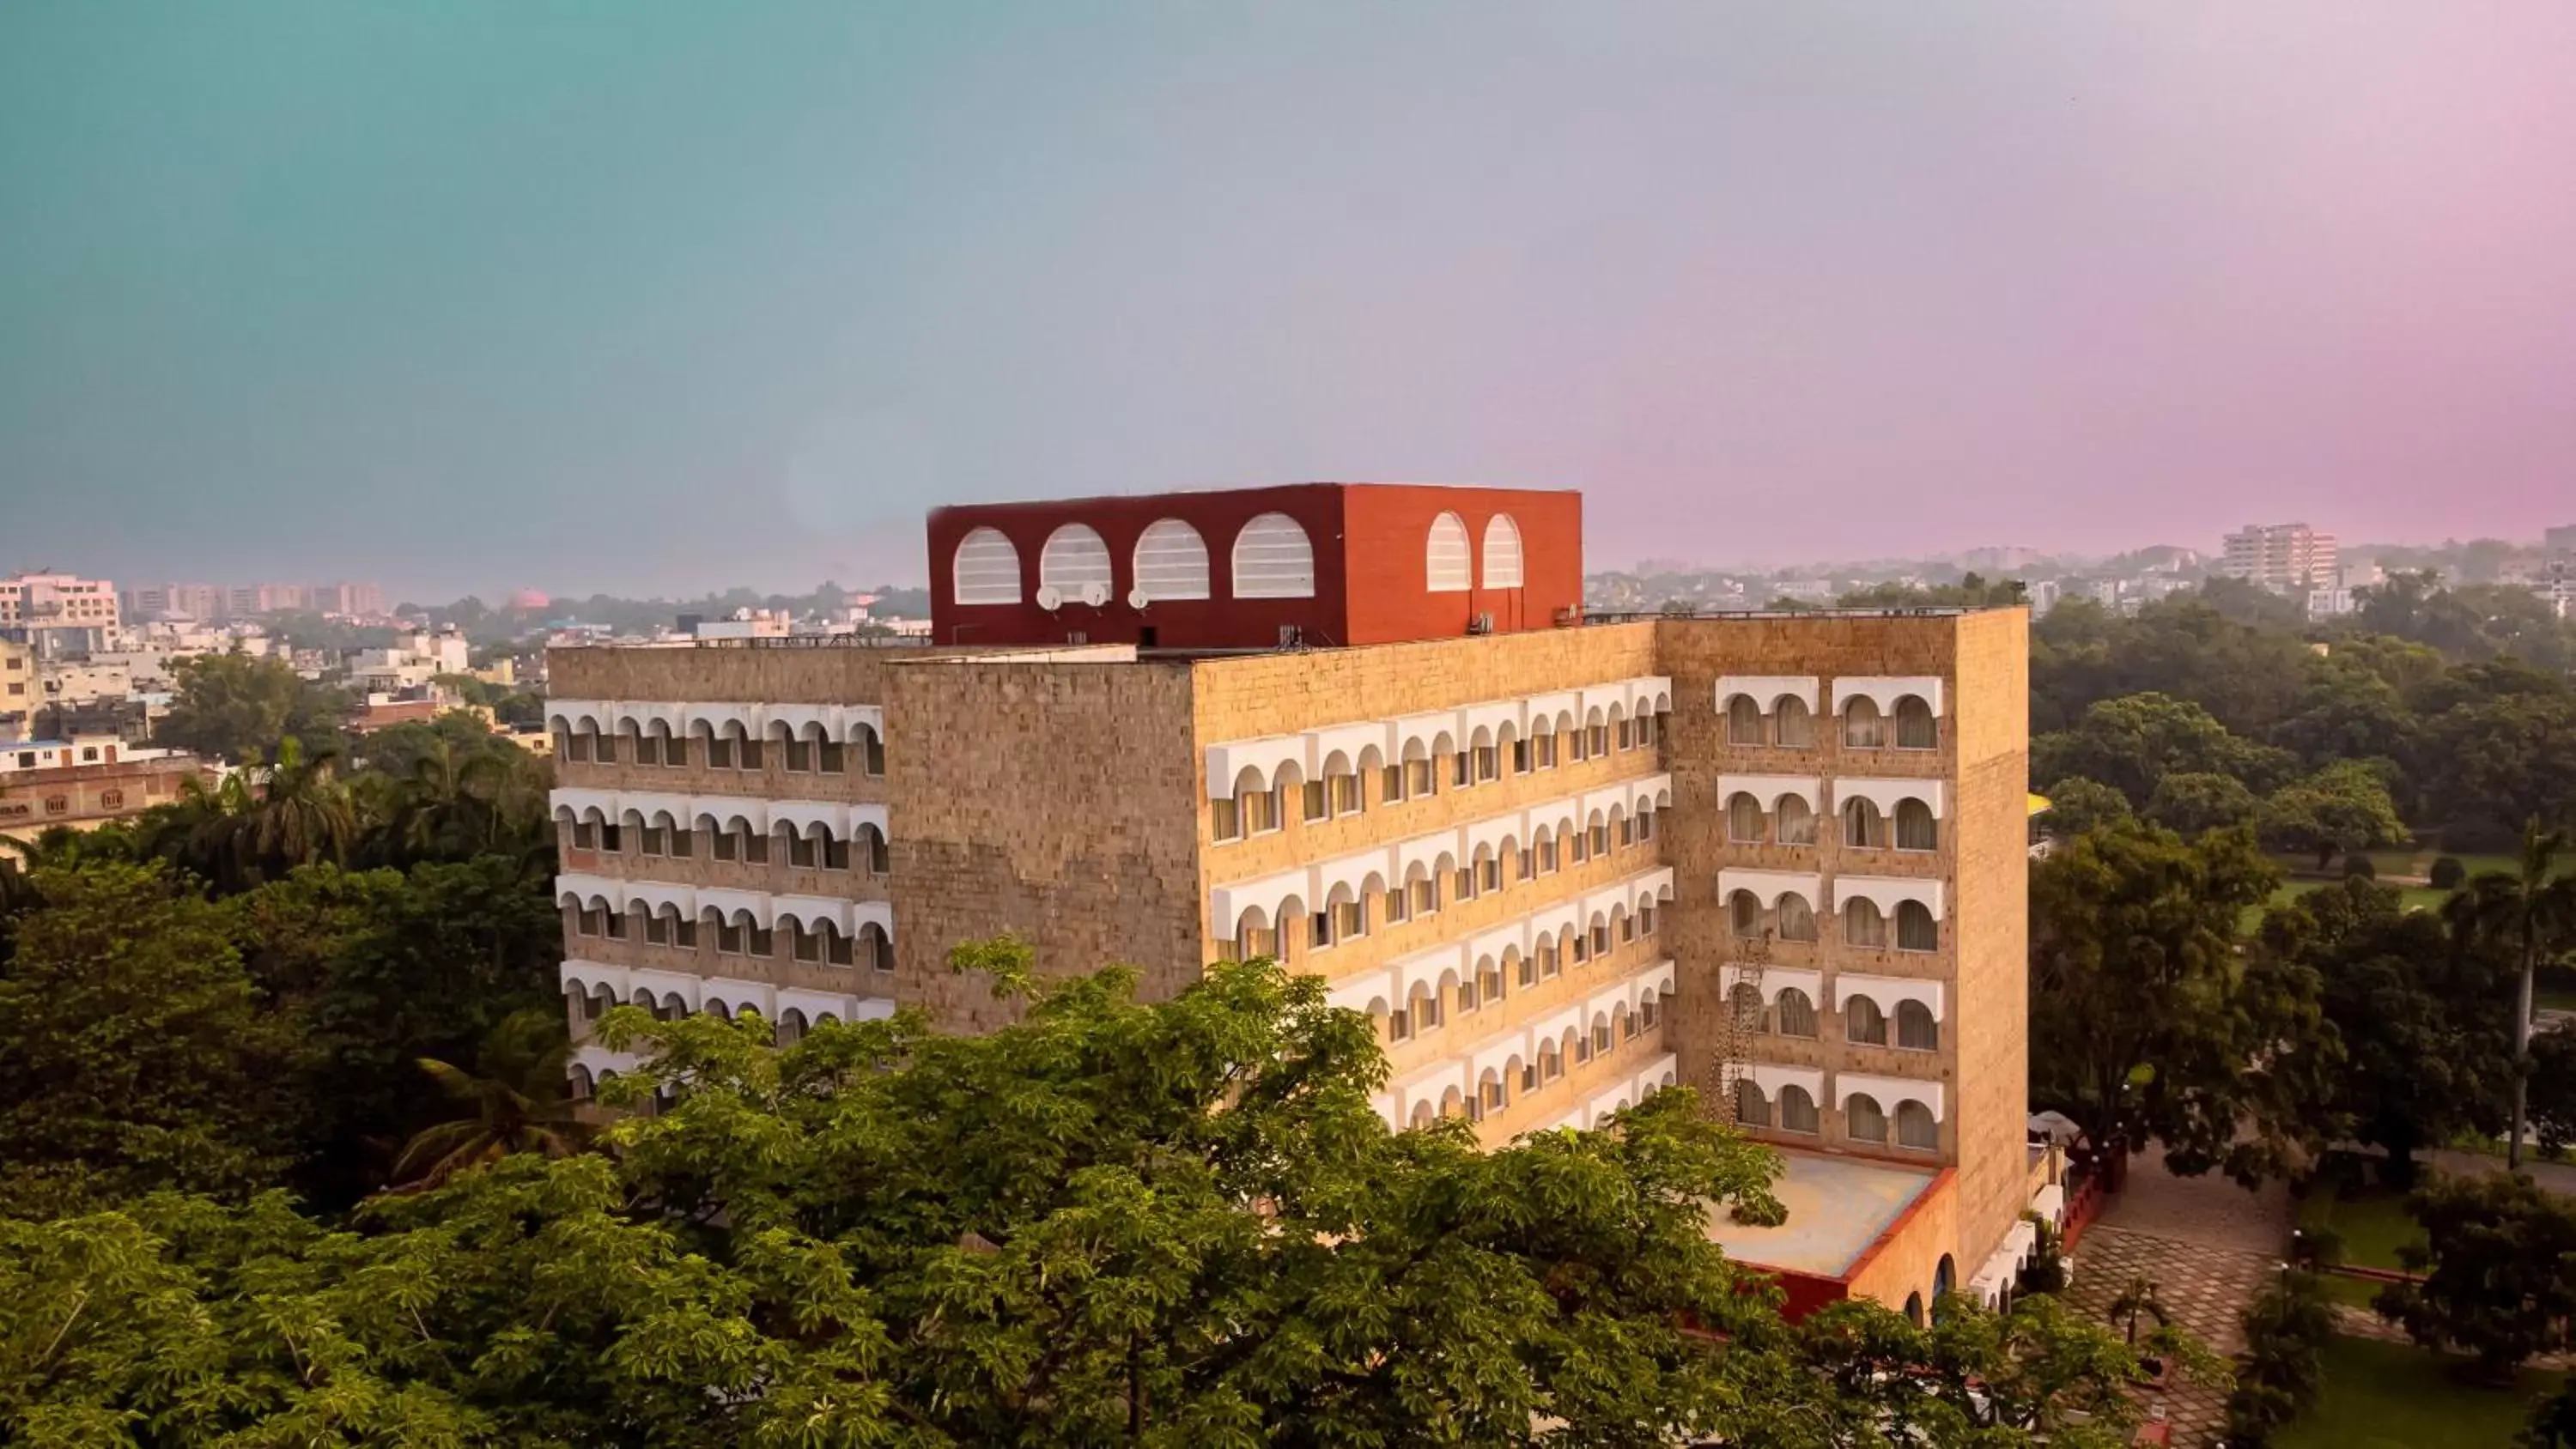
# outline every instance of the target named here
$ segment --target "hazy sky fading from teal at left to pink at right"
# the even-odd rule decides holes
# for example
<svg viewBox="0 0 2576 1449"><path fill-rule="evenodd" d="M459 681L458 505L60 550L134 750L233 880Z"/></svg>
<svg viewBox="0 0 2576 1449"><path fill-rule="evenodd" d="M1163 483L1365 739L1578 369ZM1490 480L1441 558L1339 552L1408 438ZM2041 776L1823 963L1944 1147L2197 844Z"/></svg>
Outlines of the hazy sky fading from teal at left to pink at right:
<svg viewBox="0 0 2576 1449"><path fill-rule="evenodd" d="M956 499L1589 558L2576 522L2566 0L0 5L0 569L920 579Z"/></svg>

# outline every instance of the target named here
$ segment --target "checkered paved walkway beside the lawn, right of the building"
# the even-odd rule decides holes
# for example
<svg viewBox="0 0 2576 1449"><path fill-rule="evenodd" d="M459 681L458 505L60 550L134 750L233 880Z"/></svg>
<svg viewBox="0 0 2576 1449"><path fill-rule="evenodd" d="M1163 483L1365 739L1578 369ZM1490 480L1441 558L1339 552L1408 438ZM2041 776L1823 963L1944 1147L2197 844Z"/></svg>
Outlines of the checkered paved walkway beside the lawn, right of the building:
<svg viewBox="0 0 2576 1449"><path fill-rule="evenodd" d="M2246 1192L2223 1176L2174 1176L2161 1153L2130 1163L2128 1189L2110 1202L2076 1243L2066 1302L2105 1320L2130 1279L2156 1282L2156 1297L2182 1328L2233 1356L2244 1349L2239 1318L2254 1295L2280 1274L2290 1241L2290 1192L2267 1184ZM2228 1395L2174 1380L2148 1390L2164 1405L2177 1446L2210 1446L2226 1428Z"/></svg>

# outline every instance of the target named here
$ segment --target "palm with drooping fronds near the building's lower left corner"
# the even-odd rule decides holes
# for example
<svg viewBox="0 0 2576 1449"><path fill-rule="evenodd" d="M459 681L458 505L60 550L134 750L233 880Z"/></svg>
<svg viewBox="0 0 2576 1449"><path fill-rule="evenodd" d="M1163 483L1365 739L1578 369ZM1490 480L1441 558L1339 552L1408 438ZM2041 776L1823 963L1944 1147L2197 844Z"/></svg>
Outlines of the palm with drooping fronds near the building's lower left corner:
<svg viewBox="0 0 2576 1449"><path fill-rule="evenodd" d="M502 1017L484 1037L474 1060L482 1076L420 1058L420 1071L471 1112L415 1132L394 1158L394 1184L402 1192L428 1192L466 1168L513 1153L549 1158L580 1153L590 1143L590 1125L572 1114L572 1094L564 1086L569 1055L564 1019L531 1006Z"/></svg>

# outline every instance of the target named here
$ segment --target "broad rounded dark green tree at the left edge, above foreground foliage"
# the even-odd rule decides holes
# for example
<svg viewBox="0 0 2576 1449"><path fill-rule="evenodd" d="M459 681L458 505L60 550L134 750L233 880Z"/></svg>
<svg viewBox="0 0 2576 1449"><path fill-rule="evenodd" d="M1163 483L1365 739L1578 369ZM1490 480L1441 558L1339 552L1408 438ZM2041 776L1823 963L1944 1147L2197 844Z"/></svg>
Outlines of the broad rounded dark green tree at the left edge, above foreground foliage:
<svg viewBox="0 0 2576 1449"><path fill-rule="evenodd" d="M0 1210L155 1186L247 1192L283 1166L289 1042L224 911L157 865L36 870L0 973Z"/></svg>

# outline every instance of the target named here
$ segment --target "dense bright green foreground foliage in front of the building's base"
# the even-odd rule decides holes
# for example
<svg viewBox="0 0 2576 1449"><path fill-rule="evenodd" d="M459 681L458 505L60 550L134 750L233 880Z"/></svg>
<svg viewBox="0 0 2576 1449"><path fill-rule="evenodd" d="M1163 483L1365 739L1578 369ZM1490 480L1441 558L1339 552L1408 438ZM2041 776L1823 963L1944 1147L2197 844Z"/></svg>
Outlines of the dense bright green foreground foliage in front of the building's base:
<svg viewBox="0 0 2576 1449"><path fill-rule="evenodd" d="M605 1032L675 1094L332 1228L278 1194L0 1220L0 1423L80 1444L2125 1444L2050 1300L1788 1325L1708 1241L1772 1161L1664 1091L1391 1132L1368 1022L1224 965L773 1048ZM2187 1343L2159 1341L2195 1367Z"/></svg>

